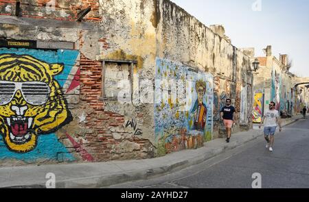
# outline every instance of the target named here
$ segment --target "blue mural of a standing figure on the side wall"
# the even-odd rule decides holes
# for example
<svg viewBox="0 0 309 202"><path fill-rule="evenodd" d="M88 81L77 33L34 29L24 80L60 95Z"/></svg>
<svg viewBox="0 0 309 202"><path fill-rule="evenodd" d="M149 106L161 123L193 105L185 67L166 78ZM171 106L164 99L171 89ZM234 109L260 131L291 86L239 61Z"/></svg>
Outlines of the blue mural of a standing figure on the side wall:
<svg viewBox="0 0 309 202"><path fill-rule="evenodd" d="M156 84L155 94L156 100L161 97L155 103L158 155L203 147L203 142L212 139L212 76L170 60L157 58L156 63L156 79L162 81ZM177 85L172 87L165 83Z"/></svg>

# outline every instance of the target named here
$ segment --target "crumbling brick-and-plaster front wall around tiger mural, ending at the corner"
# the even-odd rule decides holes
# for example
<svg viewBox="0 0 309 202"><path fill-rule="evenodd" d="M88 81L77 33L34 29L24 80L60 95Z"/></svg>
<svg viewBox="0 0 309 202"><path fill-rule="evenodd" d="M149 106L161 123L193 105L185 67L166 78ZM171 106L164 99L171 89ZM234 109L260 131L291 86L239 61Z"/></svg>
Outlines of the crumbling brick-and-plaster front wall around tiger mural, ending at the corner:
<svg viewBox="0 0 309 202"><path fill-rule="evenodd" d="M57 12L63 14L72 10L76 3L80 7L74 7L76 10L73 9L69 17L60 18L61 14ZM0 1L1 6L8 4L8 1ZM83 22L73 22L75 12L89 5L93 11L98 9L101 15L91 12ZM153 104L141 103L137 96L139 91L145 95L145 89L153 88L156 56L155 27L151 21L153 1L58 1L57 12L49 14L45 13L44 2L36 2L30 3L29 10L22 5L22 10L23 17L19 18L10 16L14 15L12 10L1 12L1 38L37 40L58 51L71 45L69 49L79 52L74 63L75 72L70 73L62 90L73 120L56 131L56 140L65 146L74 161L153 157ZM44 55L42 51L40 53ZM102 60L137 61L132 77L134 104L102 98L102 78L105 76ZM78 86L67 92L75 80ZM145 82L148 80L151 83ZM34 163L67 162L63 157L33 160ZM31 162L16 162L14 158L1 156L1 164L10 163Z"/></svg>

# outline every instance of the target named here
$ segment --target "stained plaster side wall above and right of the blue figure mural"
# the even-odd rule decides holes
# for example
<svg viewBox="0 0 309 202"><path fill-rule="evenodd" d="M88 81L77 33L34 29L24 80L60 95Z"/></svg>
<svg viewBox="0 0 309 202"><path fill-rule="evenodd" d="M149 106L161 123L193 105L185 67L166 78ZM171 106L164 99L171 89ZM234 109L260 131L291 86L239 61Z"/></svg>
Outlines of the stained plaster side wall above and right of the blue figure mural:
<svg viewBox="0 0 309 202"><path fill-rule="evenodd" d="M157 57L180 62L214 77L213 138L224 130L220 108L231 98L238 125L251 125L252 73L249 56L170 1L156 1ZM240 129L237 127L235 130ZM225 131L222 131L222 134Z"/></svg>

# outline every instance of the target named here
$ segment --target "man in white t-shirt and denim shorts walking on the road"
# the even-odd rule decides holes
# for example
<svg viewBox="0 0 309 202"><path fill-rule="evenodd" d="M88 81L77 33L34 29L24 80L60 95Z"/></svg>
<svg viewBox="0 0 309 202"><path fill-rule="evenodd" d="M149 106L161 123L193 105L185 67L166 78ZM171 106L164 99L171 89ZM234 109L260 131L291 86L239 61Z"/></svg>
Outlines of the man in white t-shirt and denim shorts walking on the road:
<svg viewBox="0 0 309 202"><path fill-rule="evenodd" d="M275 103L271 102L269 104L269 110L266 111L265 115L262 118L262 122L260 123L260 128L264 123L264 136L267 142L266 148L269 147L269 151L273 151L273 144L275 142L275 131L277 129L277 124L279 125L279 131L282 131L281 121L279 112L275 110Z"/></svg>

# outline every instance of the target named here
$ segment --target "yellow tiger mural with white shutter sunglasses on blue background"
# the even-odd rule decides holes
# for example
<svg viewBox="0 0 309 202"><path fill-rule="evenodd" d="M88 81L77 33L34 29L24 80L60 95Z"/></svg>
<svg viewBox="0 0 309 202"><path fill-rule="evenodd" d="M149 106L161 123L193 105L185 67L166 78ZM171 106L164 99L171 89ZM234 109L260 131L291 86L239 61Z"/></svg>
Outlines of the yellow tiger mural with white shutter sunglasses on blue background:
<svg viewBox="0 0 309 202"><path fill-rule="evenodd" d="M64 92L79 86L67 80L79 77L77 58L78 51L0 49L0 160L75 160L55 132L72 120Z"/></svg>

